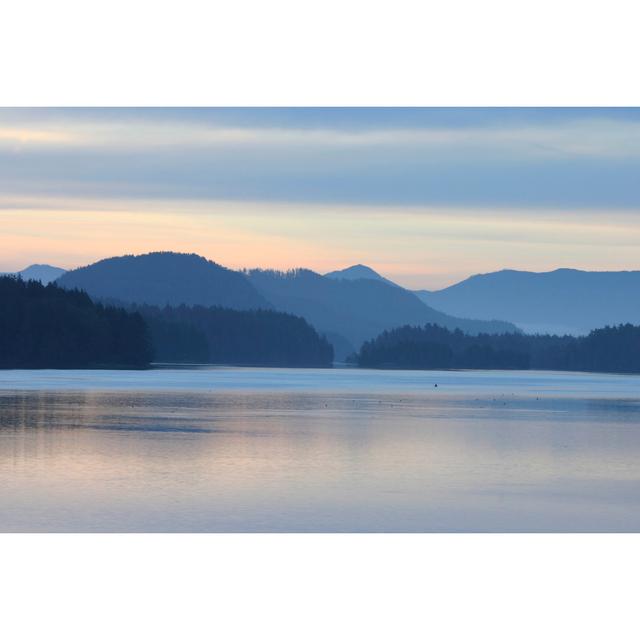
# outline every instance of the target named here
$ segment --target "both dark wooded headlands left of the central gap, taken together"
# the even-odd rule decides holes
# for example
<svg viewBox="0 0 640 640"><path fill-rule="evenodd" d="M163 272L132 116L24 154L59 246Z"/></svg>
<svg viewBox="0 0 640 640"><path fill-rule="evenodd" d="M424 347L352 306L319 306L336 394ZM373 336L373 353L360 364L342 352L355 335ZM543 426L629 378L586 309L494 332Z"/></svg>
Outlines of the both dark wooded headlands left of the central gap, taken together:
<svg viewBox="0 0 640 640"><path fill-rule="evenodd" d="M97 303L83 291L0 277L0 368L144 367L162 362L330 367L304 319L270 310Z"/></svg>

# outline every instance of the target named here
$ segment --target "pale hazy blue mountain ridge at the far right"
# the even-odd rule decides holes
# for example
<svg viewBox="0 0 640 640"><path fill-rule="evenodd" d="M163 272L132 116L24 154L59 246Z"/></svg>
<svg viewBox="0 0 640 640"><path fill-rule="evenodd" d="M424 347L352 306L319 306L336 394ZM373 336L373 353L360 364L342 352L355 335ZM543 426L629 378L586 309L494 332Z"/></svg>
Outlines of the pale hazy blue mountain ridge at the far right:
<svg viewBox="0 0 640 640"><path fill-rule="evenodd" d="M640 271L546 272L505 269L478 274L440 291L417 291L444 313L503 318L527 332L588 333L640 323Z"/></svg>

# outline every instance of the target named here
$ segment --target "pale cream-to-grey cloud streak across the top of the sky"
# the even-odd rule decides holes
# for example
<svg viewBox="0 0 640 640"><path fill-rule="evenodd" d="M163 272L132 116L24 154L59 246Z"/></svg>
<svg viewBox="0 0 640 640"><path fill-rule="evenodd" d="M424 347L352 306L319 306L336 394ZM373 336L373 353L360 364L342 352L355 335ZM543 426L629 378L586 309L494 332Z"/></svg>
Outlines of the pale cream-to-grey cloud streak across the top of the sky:
<svg viewBox="0 0 640 640"><path fill-rule="evenodd" d="M2 113L0 111L0 123ZM478 153L499 152L538 157L549 154L594 158L640 157L640 122L602 118L535 124L505 123L485 127L429 127L337 129L215 126L174 119L79 120L42 122L31 119L28 127L5 124L0 127L0 144L26 147L88 148L109 150L158 150L271 147L303 147L308 151L326 148L371 150L385 148L411 152Z"/></svg>

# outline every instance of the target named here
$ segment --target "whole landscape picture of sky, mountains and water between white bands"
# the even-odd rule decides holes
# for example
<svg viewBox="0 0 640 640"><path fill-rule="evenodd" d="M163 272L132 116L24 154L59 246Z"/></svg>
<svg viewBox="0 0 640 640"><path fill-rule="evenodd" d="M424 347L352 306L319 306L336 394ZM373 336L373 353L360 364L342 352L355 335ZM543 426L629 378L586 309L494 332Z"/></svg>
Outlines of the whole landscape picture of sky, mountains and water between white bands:
<svg viewBox="0 0 640 640"><path fill-rule="evenodd" d="M640 531L640 110L0 109L0 531Z"/></svg>

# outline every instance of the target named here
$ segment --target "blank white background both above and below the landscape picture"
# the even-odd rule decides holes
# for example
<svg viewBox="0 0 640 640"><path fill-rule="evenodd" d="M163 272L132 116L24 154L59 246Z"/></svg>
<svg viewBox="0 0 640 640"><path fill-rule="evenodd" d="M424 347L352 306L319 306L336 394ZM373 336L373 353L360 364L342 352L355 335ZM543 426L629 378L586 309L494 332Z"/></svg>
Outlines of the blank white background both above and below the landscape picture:
<svg viewBox="0 0 640 640"><path fill-rule="evenodd" d="M10 0L10 105L638 105L635 2ZM3 636L637 637L637 536L14 536Z"/></svg>

